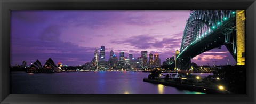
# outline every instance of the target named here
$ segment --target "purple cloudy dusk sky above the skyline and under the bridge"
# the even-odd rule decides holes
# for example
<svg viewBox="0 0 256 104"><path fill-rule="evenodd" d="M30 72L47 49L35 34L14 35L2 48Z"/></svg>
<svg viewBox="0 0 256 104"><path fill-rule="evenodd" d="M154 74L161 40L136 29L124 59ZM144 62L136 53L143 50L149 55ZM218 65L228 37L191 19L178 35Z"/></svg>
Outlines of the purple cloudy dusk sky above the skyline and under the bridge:
<svg viewBox="0 0 256 104"><path fill-rule="evenodd" d="M140 56L158 53L161 62L180 50L189 10L31 10L11 11L11 65L52 58L75 66L90 62L96 48L105 45L106 60L113 49ZM225 46L193 58L198 65L236 64Z"/></svg>

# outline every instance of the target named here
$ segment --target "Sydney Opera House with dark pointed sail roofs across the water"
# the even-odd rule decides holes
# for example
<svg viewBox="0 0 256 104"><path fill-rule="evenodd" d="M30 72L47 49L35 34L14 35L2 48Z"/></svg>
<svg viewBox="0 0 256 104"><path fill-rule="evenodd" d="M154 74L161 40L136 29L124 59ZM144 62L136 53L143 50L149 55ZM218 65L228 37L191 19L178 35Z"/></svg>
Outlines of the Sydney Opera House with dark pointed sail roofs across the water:
<svg viewBox="0 0 256 104"><path fill-rule="evenodd" d="M59 68L54 64L51 58L46 60L44 66L42 66L41 62L37 59L31 64L30 68L26 70L26 73L54 73L58 70Z"/></svg>

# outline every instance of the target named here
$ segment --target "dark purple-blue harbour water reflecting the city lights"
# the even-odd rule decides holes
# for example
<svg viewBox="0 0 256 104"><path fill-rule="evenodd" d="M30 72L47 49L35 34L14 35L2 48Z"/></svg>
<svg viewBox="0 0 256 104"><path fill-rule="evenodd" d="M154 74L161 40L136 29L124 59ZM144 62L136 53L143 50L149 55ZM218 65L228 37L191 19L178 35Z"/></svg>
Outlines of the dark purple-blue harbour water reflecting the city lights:
<svg viewBox="0 0 256 104"><path fill-rule="evenodd" d="M193 74L202 77L211 75ZM11 94L203 94L143 82L143 78L148 75L132 71L51 74L11 72Z"/></svg>

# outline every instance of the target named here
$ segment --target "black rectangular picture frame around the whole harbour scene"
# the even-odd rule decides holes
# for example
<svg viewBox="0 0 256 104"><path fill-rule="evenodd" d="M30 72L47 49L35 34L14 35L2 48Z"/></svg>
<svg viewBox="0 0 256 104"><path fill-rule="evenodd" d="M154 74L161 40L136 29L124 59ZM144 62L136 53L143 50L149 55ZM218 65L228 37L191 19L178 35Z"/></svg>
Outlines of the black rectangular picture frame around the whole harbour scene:
<svg viewBox="0 0 256 104"><path fill-rule="evenodd" d="M1 103L256 103L255 0L0 0ZM10 10L246 10L246 94L10 94Z"/></svg>

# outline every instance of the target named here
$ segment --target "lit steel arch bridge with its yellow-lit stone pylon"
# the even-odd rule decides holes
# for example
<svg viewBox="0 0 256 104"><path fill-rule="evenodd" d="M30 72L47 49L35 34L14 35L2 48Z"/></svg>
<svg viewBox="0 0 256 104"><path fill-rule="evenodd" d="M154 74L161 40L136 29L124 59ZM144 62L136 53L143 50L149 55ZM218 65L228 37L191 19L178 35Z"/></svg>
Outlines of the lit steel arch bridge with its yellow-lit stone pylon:
<svg viewBox="0 0 256 104"><path fill-rule="evenodd" d="M245 64L245 11L194 10L187 20L175 66L191 69L191 59L225 45L237 65Z"/></svg>

